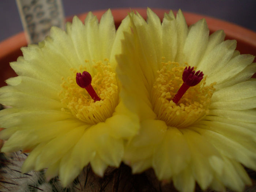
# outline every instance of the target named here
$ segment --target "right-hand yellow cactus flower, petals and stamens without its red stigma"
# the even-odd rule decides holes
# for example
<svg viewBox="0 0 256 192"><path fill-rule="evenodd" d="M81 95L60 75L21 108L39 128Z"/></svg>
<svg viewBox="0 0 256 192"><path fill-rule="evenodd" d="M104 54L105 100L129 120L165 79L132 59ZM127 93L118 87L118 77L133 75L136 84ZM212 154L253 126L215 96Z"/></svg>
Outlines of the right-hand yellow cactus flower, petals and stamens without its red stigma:
<svg viewBox="0 0 256 192"><path fill-rule="evenodd" d="M203 190L242 191L251 180L241 164L256 170L254 57L240 55L222 30L209 36L205 19L187 27L181 11L165 14L162 24L150 9L147 16L130 14L117 57L121 98L140 118L124 161L133 173L153 167L179 191L193 191L195 182ZM186 66L204 79L176 104Z"/></svg>

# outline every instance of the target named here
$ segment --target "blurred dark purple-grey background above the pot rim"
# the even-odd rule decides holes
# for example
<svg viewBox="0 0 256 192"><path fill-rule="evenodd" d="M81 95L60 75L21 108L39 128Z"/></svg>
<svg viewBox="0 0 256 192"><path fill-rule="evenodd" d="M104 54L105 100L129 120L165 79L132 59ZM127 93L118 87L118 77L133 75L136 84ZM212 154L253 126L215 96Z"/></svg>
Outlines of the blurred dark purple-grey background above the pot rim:
<svg viewBox="0 0 256 192"><path fill-rule="evenodd" d="M65 16L107 8L181 8L256 31L256 0L63 0L63 6ZM15 0L0 1L0 26L0 41L23 31Z"/></svg>

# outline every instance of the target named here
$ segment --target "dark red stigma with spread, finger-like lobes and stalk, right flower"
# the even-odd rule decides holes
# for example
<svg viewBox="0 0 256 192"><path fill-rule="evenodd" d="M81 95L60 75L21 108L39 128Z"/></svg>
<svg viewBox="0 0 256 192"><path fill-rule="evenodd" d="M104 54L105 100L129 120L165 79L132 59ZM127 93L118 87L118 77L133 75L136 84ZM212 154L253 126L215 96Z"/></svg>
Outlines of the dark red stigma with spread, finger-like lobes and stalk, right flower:
<svg viewBox="0 0 256 192"><path fill-rule="evenodd" d="M178 103L181 99L181 97L185 94L185 92L188 90L189 87L193 87L200 83L200 81L203 79L203 72L201 71L193 71L194 67L190 68L185 67L184 72L182 74L182 80L183 84L181 85L180 89L176 93L176 95L173 97L173 102Z"/></svg>

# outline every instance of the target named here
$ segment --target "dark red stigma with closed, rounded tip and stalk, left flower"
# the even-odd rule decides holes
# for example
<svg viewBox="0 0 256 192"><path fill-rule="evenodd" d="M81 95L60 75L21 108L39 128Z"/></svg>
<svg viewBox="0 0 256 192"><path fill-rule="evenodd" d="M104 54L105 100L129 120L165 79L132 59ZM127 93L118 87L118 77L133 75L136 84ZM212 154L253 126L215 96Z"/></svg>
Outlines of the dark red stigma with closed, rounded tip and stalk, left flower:
<svg viewBox="0 0 256 192"><path fill-rule="evenodd" d="M80 87L86 89L86 91L90 94L94 102L101 100L101 98L99 98L99 96L93 89L93 86L91 86L91 75L89 74L89 72L84 71L82 74L76 73L76 83Z"/></svg>

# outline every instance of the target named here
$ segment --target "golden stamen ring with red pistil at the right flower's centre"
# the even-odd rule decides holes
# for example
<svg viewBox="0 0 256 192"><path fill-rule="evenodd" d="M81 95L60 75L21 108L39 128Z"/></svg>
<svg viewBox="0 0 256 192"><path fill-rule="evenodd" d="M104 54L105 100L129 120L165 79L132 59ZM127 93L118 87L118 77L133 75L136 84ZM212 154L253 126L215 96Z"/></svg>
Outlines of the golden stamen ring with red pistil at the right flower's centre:
<svg viewBox="0 0 256 192"><path fill-rule="evenodd" d="M184 69L184 66L176 62L162 62L162 68L157 71L158 76L153 84L153 110L159 120L165 121L171 127L184 128L203 118L208 113L215 90L215 83L205 86L206 77L203 79L200 72L195 74L191 68L185 69L189 70L188 75L192 72L192 76L200 78L194 78L197 80L186 84L186 80L182 80L182 74L185 73L186 76ZM183 79L187 78L183 75ZM194 85L195 83L197 84Z"/></svg>

